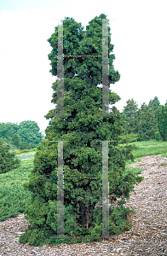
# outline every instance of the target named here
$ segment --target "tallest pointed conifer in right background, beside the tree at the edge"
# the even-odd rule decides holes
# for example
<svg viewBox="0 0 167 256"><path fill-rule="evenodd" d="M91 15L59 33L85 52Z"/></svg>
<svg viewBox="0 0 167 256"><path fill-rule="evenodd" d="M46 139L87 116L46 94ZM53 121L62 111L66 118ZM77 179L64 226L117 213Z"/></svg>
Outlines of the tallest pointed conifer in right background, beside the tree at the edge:
<svg viewBox="0 0 167 256"><path fill-rule="evenodd" d="M145 102L139 109L140 122L138 127L139 141L155 139L155 132L158 131L158 123L155 118L155 111L149 108Z"/></svg>

